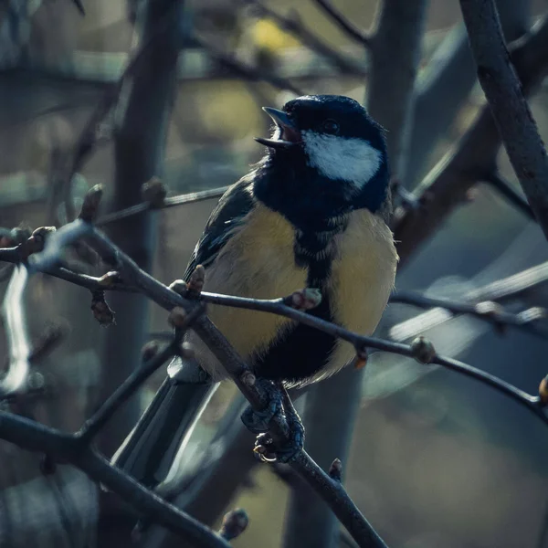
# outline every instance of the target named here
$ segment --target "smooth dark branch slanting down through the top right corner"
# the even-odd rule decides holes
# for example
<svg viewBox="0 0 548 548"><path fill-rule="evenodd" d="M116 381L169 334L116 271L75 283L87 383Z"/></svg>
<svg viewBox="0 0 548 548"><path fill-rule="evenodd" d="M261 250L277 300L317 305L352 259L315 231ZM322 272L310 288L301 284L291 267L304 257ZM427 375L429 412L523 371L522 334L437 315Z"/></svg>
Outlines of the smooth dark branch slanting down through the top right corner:
<svg viewBox="0 0 548 548"><path fill-rule="evenodd" d="M529 205L548 237L548 157L502 36L493 0L460 0L481 88Z"/></svg>

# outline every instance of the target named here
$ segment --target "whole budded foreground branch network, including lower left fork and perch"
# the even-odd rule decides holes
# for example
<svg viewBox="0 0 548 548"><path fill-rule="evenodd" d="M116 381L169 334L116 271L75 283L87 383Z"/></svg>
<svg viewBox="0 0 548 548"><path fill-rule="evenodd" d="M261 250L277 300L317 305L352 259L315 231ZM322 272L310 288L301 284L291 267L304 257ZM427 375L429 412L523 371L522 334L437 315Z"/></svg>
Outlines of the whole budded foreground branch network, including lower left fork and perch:
<svg viewBox="0 0 548 548"><path fill-rule="evenodd" d="M102 278L102 283L105 284L107 280L110 280L114 284L127 284L132 290L141 292L165 310L171 311L172 316L178 314L180 321L175 323L175 325L178 326L179 330L192 326L192 329L208 345L212 352L216 354L217 359L225 366L227 374L230 375L242 394L245 395L248 402L256 410L260 411L265 406L265 397L261 392L259 384L256 382L256 376L249 370L248 364L240 358L222 333L218 332L215 325L203 313L203 305L206 303L285 316L293 321L310 325L322 332L327 332L352 343L356 349L356 354L362 358L364 358L367 349L376 349L383 352L405 355L416 359L422 364L441 365L459 374L465 374L483 384L490 385L503 394L510 396L514 401L525 406L535 416L538 416L544 423L548 424L548 417L543 410L543 406L548 403L548 388L545 380L540 385L539 395L530 395L505 383L494 375L484 373L457 360L438 355L433 345L423 338L417 338L411 344L403 344L349 332L341 326L329 321L323 321L307 313L308 310L317 306L321 301L321 294L317 290L303 289L292 293L288 297L277 300L245 299L237 296L208 293L202 291L204 269L201 268L195 270L194 275L186 284L176 281L172 284L171 289L164 286L157 279L139 269L131 258L121 252L108 237L105 237L90 223L90 220L97 217L99 198L100 188L95 187L86 196L82 208L83 213L80 214L79 219L63 227L64 230L48 233L42 251L37 251L24 258L25 253L21 249L25 248L25 246L28 247L28 244L23 243L16 248L0 250L0 259L8 258L8 260L14 260L17 257L19 261L26 261L27 264L32 265L30 268L34 271L39 270L42 266L46 269L55 269L58 268L58 256L55 256L53 250L55 250L55 253L60 254L61 243L67 245L69 242L74 241L72 237L85 238L90 247L95 249L99 254L103 262L112 269L110 274ZM116 272L116 274L112 272ZM98 284L100 281L94 280L93 283ZM192 295L190 295L191 293ZM191 299L185 297L191 297ZM172 321L174 322L174 320ZM169 343L161 353L157 353L151 358L142 369L132 374L76 435L54 432L37 423L29 423L28 421L21 423L23 419L10 414L4 414L0 416L0 437L13 441L23 448L46 452L52 458L67 459L89 473L91 478L99 479L107 487L116 492L121 494L129 492L135 495L138 494L139 497L144 498L146 501L140 502L141 506L139 508L146 507L149 512L148 515L149 517L152 516L153 521L174 529L174 514L169 505L165 506L166 503L162 501L162 508L168 512L169 519L166 519L165 516L163 516L162 520L157 519L157 514L154 512L159 511L159 507L157 506L158 501L156 498L153 501L148 501L147 497L150 491L144 490L141 486L133 485L132 480L125 478L120 471L115 470L112 472L111 470L113 469L109 468L110 465L106 463L104 458L100 457L93 450L86 448L90 447L90 440L106 424L121 404L142 385L142 382L155 369L160 367L174 353L174 344L176 341L177 339L174 339L174 342ZM290 404L289 400L287 403ZM25 435L18 431L19 427L23 428ZM284 417L274 416L269 422L269 431L275 440L287 440L288 426L285 423ZM54 440L58 440L58 445L54 443ZM356 508L353 501L343 489L340 481L335 477L337 474L340 474L341 465L339 463L333 464L332 469L335 471L328 474L302 450L292 460L290 466L329 504L332 511L337 515L359 546L385 546L385 543L374 532L373 527L365 520L362 513ZM335 473L337 470L339 471ZM168 511L166 508L170 510ZM175 529L177 528L175 527ZM202 530L199 531L202 534ZM197 530L193 529L193 534L198 534ZM211 532L208 532L208 534L211 534ZM211 539L209 540L211 541Z"/></svg>

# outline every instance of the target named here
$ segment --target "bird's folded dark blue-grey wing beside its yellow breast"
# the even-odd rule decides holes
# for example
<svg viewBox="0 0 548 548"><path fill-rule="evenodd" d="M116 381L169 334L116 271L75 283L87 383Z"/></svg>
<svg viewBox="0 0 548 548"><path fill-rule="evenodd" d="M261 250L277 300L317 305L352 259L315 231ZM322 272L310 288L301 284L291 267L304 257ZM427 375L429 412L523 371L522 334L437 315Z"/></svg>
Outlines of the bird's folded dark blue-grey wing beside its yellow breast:
<svg viewBox="0 0 548 548"><path fill-rule="evenodd" d="M209 216L204 233L188 262L183 278L185 281L188 281L197 265L207 268L216 259L219 251L227 243L231 231L237 227L243 217L248 215L254 203L255 199L248 177L233 184L222 195Z"/></svg>

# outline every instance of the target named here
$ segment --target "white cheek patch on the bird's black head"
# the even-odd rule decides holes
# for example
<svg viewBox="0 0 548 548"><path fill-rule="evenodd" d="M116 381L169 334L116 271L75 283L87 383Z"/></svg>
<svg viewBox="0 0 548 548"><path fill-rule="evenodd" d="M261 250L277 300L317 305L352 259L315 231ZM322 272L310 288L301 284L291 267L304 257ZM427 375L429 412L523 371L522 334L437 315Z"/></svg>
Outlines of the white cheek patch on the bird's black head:
<svg viewBox="0 0 548 548"><path fill-rule="evenodd" d="M356 189L367 184L381 166L382 153L363 139L302 132L309 164L330 179L342 179Z"/></svg>

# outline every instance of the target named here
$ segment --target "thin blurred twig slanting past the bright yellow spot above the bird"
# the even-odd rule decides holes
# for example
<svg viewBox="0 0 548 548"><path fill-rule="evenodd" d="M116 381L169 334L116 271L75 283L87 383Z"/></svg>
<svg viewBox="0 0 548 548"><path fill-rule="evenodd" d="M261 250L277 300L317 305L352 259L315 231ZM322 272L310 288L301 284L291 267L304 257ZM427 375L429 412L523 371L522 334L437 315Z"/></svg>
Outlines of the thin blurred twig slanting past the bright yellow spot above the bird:
<svg viewBox="0 0 548 548"><path fill-rule="evenodd" d="M258 0L241 0L244 5L251 5L258 16L268 17L279 28L290 32L300 40L303 46L309 47L322 57L326 58L333 67L339 68L343 74L365 77L366 71L357 62L342 56L339 52L327 46L316 37L306 26L303 26L296 18L281 16L278 12L270 9Z"/></svg>

